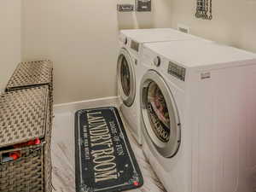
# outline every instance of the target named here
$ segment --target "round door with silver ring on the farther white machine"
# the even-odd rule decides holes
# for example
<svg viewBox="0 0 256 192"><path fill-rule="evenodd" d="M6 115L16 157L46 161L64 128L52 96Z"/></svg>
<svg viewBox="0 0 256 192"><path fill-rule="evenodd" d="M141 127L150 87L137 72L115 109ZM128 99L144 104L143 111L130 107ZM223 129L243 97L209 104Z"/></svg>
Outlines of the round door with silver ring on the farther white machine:
<svg viewBox="0 0 256 192"><path fill-rule="evenodd" d="M135 99L135 72L131 56L126 49L121 49L118 58L118 84L120 96L126 106L130 107Z"/></svg>

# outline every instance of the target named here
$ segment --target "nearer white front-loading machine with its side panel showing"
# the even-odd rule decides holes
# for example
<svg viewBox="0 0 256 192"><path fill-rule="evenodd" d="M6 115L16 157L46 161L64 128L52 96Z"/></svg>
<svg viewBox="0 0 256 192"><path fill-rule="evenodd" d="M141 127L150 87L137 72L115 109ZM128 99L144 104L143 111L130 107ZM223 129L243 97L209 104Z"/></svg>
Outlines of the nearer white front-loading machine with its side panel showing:
<svg viewBox="0 0 256 192"><path fill-rule="evenodd" d="M168 192L256 191L256 55L143 44L143 152Z"/></svg>

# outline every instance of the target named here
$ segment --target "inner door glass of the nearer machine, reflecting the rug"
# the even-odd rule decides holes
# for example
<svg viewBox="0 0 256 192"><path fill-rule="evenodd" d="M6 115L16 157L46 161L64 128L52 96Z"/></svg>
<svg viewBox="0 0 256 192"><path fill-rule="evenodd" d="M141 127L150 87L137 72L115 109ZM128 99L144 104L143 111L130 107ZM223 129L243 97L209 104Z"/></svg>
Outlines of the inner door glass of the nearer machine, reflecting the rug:
<svg viewBox="0 0 256 192"><path fill-rule="evenodd" d="M165 97L154 82L148 85L147 109L154 134L161 142L168 143L171 131L169 112Z"/></svg>

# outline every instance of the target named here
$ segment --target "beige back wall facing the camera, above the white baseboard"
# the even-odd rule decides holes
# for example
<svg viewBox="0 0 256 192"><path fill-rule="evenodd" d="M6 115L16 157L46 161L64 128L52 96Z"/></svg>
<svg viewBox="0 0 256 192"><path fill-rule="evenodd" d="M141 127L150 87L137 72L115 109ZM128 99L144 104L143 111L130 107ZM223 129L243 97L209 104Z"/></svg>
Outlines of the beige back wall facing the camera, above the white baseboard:
<svg viewBox="0 0 256 192"><path fill-rule="evenodd" d="M125 0L23 0L23 60L54 61L55 103L115 96L119 29L171 26L170 1L153 2L152 13L118 14Z"/></svg>

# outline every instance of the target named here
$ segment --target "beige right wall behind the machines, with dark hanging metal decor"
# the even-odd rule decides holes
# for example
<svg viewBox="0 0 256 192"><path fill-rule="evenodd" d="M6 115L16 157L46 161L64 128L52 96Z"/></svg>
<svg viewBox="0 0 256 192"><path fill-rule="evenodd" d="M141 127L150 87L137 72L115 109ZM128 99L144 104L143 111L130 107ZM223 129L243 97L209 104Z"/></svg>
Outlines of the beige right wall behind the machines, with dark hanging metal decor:
<svg viewBox="0 0 256 192"><path fill-rule="evenodd" d="M172 0L172 26L183 23L191 33L256 52L256 1L212 0L212 20L195 19L195 0Z"/></svg>

